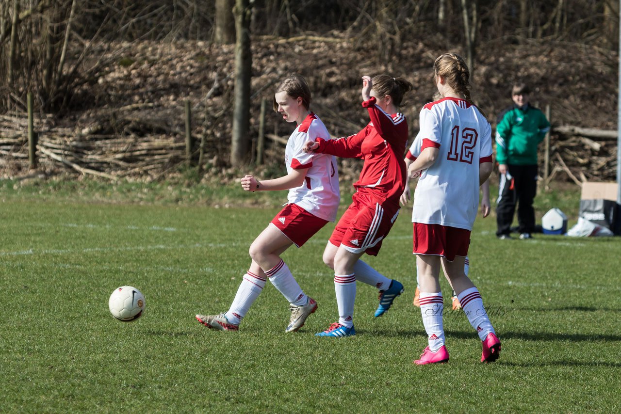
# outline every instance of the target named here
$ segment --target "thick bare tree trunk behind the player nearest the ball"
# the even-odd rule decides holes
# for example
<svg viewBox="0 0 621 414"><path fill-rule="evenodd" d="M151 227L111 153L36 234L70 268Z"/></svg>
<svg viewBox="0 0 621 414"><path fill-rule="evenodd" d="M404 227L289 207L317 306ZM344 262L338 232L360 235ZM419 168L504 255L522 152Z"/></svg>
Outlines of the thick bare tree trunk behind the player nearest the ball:
<svg viewBox="0 0 621 414"><path fill-rule="evenodd" d="M250 0L235 1L235 103L230 161L240 166L246 161L250 147L250 79L252 52L250 50Z"/></svg>

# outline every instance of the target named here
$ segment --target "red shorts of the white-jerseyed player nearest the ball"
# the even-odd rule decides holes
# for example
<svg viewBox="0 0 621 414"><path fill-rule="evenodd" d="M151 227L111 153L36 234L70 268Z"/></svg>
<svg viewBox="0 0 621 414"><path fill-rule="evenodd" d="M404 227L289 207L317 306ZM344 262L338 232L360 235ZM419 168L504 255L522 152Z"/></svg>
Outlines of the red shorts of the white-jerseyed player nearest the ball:
<svg viewBox="0 0 621 414"><path fill-rule="evenodd" d="M285 205L271 221L297 247L306 243L327 222L327 220L312 215L297 204Z"/></svg>

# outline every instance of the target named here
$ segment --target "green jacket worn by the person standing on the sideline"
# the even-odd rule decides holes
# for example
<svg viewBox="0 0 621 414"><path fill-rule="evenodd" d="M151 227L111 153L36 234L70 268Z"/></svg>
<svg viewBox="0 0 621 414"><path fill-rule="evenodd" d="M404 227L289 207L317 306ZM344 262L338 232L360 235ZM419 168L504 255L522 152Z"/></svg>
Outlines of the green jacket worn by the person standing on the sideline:
<svg viewBox="0 0 621 414"><path fill-rule="evenodd" d="M496 126L496 162L536 165L537 145L549 130L550 122L540 109L514 105Z"/></svg>

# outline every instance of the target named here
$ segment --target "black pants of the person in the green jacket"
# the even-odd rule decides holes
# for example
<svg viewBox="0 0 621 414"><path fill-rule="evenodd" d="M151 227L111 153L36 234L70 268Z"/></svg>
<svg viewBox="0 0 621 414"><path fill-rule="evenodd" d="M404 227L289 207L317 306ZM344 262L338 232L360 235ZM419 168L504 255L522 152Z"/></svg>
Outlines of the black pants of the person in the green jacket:
<svg viewBox="0 0 621 414"><path fill-rule="evenodd" d="M501 174L496 207L497 236L509 235L517 204L519 233L535 230L533 199L537 194L537 165L507 165L508 174Z"/></svg>

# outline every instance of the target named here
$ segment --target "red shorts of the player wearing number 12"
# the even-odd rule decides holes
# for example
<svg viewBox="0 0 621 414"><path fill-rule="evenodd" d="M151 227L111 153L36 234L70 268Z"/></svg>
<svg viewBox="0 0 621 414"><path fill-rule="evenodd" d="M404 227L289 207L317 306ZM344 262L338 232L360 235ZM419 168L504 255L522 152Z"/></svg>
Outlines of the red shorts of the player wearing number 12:
<svg viewBox="0 0 621 414"><path fill-rule="evenodd" d="M455 256L467 256L470 230L439 224L414 223L415 254L444 256L453 261Z"/></svg>

